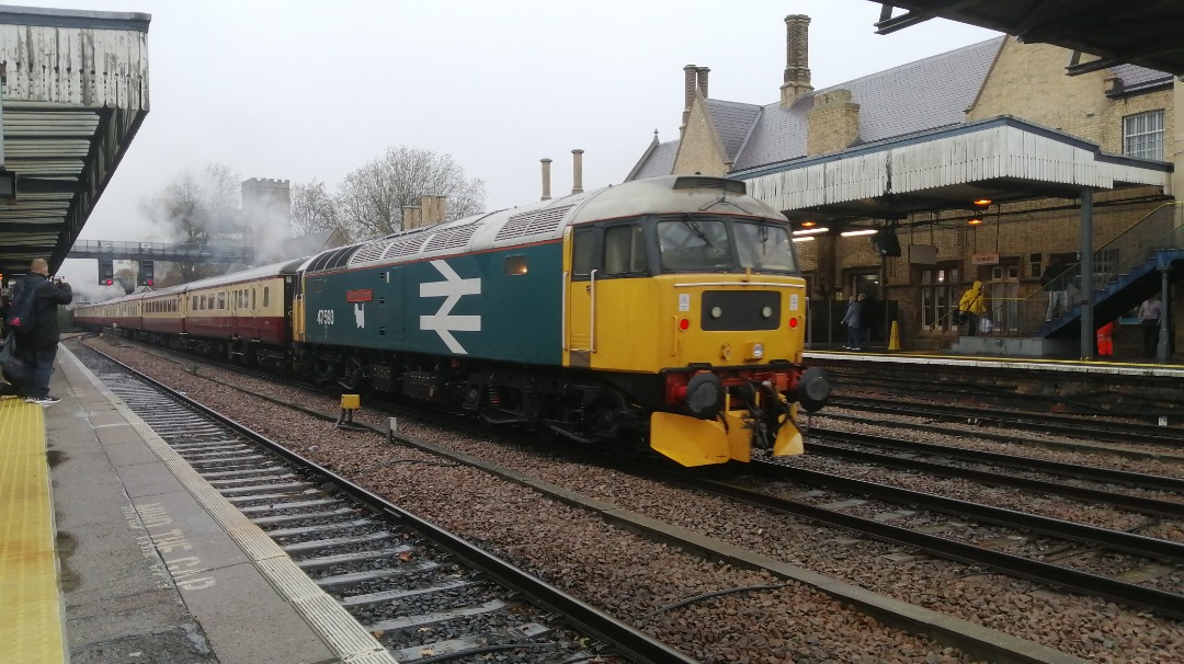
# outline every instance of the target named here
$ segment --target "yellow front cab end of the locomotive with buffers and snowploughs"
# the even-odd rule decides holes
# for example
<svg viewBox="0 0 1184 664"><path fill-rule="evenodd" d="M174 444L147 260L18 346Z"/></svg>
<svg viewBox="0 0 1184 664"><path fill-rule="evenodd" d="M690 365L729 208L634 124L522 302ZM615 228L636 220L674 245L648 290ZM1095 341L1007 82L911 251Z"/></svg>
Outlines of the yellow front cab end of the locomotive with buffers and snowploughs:
<svg viewBox="0 0 1184 664"><path fill-rule="evenodd" d="M802 453L798 408L829 388L802 362L789 223L735 195L742 182L665 180L665 209L570 228L565 363L622 386L649 412L650 446L683 465Z"/></svg>

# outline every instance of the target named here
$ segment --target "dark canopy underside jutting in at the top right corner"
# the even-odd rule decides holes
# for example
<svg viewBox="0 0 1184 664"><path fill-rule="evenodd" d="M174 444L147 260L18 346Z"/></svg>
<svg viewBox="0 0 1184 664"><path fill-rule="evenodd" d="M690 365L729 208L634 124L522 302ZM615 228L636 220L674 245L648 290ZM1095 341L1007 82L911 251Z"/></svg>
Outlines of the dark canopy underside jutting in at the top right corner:
<svg viewBox="0 0 1184 664"><path fill-rule="evenodd" d="M887 34L932 18L1005 32L1095 56L1069 73L1134 64L1184 76L1180 0L871 0L884 6L876 32ZM907 9L892 15L892 9ZM1069 63L1067 63L1069 64Z"/></svg>

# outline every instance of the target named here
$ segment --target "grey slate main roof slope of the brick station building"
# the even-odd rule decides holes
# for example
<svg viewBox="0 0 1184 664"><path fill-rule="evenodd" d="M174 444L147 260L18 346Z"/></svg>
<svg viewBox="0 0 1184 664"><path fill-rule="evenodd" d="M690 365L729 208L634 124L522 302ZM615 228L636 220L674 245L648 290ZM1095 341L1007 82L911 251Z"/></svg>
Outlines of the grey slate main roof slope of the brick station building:
<svg viewBox="0 0 1184 664"><path fill-rule="evenodd" d="M813 97L850 90L860 104L861 143L892 138L964 121L1003 44L997 37L886 71L816 90L789 109L764 107L733 170L746 170L806 154L806 114Z"/></svg>

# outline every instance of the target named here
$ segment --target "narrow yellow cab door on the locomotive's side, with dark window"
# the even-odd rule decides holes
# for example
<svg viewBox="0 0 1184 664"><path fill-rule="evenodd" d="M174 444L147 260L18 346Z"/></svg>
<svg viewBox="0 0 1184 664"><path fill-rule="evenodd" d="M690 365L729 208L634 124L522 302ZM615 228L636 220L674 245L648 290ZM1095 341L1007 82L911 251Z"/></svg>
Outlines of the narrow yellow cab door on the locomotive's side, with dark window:
<svg viewBox="0 0 1184 664"><path fill-rule="evenodd" d="M590 367L596 353L596 257L600 231L568 228L564 271L564 349L567 365Z"/></svg>

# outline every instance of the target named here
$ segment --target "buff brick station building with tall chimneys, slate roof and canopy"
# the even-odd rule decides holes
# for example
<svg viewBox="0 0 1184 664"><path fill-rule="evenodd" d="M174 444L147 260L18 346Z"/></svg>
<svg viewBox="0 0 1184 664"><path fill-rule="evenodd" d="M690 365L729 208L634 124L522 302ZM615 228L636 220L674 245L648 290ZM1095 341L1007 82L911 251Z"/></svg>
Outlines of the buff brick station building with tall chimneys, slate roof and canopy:
<svg viewBox="0 0 1184 664"><path fill-rule="evenodd" d="M712 98L710 70L687 65L678 138L655 136L626 179L727 175L783 211L816 348L842 343L847 297L866 292L886 312L874 341L895 321L905 350L957 349L969 330L952 314L982 281L991 337L1076 355L1083 324L1114 320L1128 323L1117 325L1119 357L1143 354L1134 309L1165 285L1169 311L1180 304L1184 83L1134 65L1068 76L1090 57L1000 36L815 89L810 18L785 24L776 101ZM1049 283L1050 270L1063 277ZM1050 290L1069 307L1050 311Z"/></svg>

